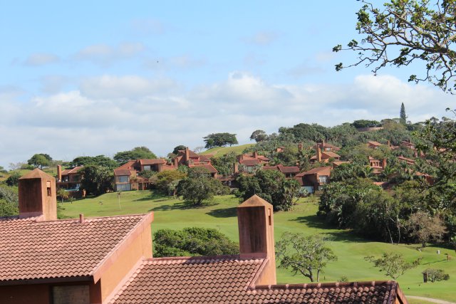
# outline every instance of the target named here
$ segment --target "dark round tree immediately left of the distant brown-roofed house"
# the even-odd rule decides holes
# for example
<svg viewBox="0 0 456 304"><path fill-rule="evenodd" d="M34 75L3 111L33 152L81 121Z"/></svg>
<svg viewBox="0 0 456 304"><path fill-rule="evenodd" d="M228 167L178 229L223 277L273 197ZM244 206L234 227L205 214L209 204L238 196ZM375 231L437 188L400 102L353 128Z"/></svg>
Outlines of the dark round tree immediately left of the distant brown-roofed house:
<svg viewBox="0 0 456 304"><path fill-rule="evenodd" d="M113 190L113 170L107 167L89 164L78 172L81 174L81 189L88 194L100 195Z"/></svg>

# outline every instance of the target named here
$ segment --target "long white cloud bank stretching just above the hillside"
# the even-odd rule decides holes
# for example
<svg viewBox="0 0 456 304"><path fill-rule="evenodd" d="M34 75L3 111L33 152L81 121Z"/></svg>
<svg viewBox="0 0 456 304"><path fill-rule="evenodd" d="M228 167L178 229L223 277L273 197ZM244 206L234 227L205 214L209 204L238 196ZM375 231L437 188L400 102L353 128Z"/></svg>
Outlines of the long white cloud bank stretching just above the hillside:
<svg viewBox="0 0 456 304"><path fill-rule="evenodd" d="M400 103L410 120L420 121L445 115L453 99L388 75L361 75L346 85L281 85L238 71L191 90L136 75L85 81L78 90L25 102L17 100L17 90L0 88L0 112L8 113L0 120L0 132L7 135L0 141L0 165L37 152L71 160L112 156L138 145L165 155L176 145L202 145L211 132L236 133L239 142L249 142L257 129L397 117Z"/></svg>

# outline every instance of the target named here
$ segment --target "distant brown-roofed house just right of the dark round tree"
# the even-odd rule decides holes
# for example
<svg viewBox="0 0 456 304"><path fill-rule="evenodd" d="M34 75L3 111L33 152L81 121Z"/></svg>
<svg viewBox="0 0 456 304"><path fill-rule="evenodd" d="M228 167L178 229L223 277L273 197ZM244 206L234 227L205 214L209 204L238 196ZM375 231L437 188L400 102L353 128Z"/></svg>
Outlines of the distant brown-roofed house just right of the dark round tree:
<svg viewBox="0 0 456 304"><path fill-rule="evenodd" d="M175 166L167 164L165 159L136 159L129 160L114 169L115 191L150 189L150 181L139 175L143 171L162 172L175 170Z"/></svg>

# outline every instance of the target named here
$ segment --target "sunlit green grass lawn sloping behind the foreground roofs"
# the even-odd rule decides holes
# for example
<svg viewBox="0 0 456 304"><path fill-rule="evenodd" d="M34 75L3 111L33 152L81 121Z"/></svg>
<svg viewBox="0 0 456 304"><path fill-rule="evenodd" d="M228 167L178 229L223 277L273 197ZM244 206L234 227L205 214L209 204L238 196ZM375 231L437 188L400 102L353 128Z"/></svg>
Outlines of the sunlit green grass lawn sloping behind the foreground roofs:
<svg viewBox="0 0 456 304"><path fill-rule="evenodd" d="M152 232L157 229L182 229L189 226L200 226L219 229L230 239L238 240L236 207L239 200L234 196L216 196L214 202L199 208L189 207L183 201L170 199L149 191L122 192L120 207L118 194L109 193L93 199L82 199L73 203L63 203L62 213L66 216L111 216L118 214L140 214L154 211L155 220ZM416 250L418 245L391 245L366 241L353 236L350 231L333 229L326 226L315 214L318 209L316 199L301 199L293 211L274 214L274 235L276 241L284 231L302 234L323 234L329 240L338 261L328 264L321 281L337 281L347 276L350 281L388 280L364 256L380 256L385 251L403 253L413 260L423 257L422 265L398 278L405 295L421 295L445 300L456 299L456 261L446 261L445 253L455 256L455 251L447 248L427 247L422 252ZM440 249L441 254L436 251ZM421 271L425 268L441 268L450 274L449 281L422 283ZM292 276L289 271L278 269L278 283L309 283L303 276ZM415 302L412 303L424 303Z"/></svg>

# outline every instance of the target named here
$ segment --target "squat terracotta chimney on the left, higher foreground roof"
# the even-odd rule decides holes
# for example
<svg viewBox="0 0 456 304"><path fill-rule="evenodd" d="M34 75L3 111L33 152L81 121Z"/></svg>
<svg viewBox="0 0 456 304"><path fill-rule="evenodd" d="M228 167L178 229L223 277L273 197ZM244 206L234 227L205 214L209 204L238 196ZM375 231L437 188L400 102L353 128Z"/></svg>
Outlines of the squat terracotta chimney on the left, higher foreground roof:
<svg viewBox="0 0 456 304"><path fill-rule="evenodd" d="M19 218L42 216L43 221L57 219L56 179L40 169L19 179Z"/></svg>

